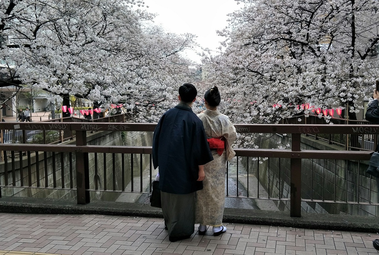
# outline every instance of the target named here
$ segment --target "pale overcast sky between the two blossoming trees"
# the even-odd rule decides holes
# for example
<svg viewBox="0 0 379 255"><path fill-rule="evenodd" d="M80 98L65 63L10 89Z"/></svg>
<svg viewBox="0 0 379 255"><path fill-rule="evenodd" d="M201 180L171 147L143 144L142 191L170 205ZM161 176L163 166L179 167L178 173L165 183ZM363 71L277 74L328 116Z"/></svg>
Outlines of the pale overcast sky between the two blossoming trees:
<svg viewBox="0 0 379 255"><path fill-rule="evenodd" d="M144 0L150 13L157 13L155 22L173 33L192 33L202 47L216 49L224 38L216 34L228 25L227 14L239 9L234 0ZM194 52L187 52L193 61L201 63Z"/></svg>

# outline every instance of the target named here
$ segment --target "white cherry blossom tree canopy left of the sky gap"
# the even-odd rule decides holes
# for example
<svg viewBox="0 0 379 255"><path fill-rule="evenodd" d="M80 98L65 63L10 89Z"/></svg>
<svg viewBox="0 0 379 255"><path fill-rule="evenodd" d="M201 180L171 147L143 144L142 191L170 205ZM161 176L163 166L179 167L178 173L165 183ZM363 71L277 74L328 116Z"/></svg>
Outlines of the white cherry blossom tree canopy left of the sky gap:
<svg viewBox="0 0 379 255"><path fill-rule="evenodd" d="M142 1L5 0L0 3L0 48L12 77L2 86L42 88L138 110L152 121L172 104L172 90L188 80L191 62L180 52L194 35L166 33ZM139 108L139 109L138 109ZM158 109L158 110L155 110Z"/></svg>

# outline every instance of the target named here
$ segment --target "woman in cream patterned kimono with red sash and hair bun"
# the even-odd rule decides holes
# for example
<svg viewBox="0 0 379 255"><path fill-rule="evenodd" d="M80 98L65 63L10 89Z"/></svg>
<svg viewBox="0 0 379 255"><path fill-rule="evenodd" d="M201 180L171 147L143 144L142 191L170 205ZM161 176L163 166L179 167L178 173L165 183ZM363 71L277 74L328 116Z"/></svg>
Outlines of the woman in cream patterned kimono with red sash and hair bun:
<svg viewBox="0 0 379 255"><path fill-rule="evenodd" d="M205 179L203 189L196 191L195 216L200 224L199 235L204 235L210 225L213 235L218 236L226 231L222 225L226 161L235 155L231 145L236 139L236 129L229 117L217 110L221 97L216 86L205 92L204 101L207 110L197 116L203 122L214 160L204 165Z"/></svg>

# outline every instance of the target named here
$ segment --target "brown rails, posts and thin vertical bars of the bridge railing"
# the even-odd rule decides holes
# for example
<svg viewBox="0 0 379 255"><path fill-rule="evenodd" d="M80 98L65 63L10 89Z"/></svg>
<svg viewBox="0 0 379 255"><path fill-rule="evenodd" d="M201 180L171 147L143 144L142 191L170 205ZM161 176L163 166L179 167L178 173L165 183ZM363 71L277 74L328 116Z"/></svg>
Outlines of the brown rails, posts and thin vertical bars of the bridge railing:
<svg viewBox="0 0 379 255"><path fill-rule="evenodd" d="M365 128L361 128L361 125L288 125L288 124L269 124L269 125L263 125L263 124L241 124L241 125L235 125L236 130L239 133L279 133L283 134L286 133L290 135L292 139L291 149L248 149L248 148L238 148L235 149L236 156L238 157L250 157L250 158L281 158L281 159L289 159L290 160L290 197L288 200L290 200L290 215L293 217L300 217L301 216L301 202L308 201L307 199L301 198L301 191L302 191L302 159L321 159L321 160L350 160L350 161L361 161L361 160L368 160L370 159L370 151L346 151L341 148L341 150L302 150L301 149L301 135L304 134L311 134L316 133L318 135L322 134L345 134L345 135L372 135L379 133L379 125L373 125L369 130ZM14 129L16 128L16 129ZM128 178L133 180L134 174L139 174L143 172L142 168L142 156L143 155L150 155L152 153L152 148L149 146L145 147L127 147L127 146L102 146L102 145L87 145L87 132L88 131L153 131L155 128L155 124L136 124L136 123L75 123L75 122L63 122L63 123L49 123L49 122L27 122L27 123L17 123L17 125L14 125L14 123L8 123L3 122L0 123L0 129L2 130L22 130L22 131L30 131L30 130L42 130L42 131L51 131L51 130L62 130L62 131L75 131L76 133L76 145L70 145L70 144L0 144L0 150L2 151L10 151L12 156L10 159L8 157L5 157L6 160L3 163L3 179L4 181L0 183L0 187L6 188L6 187L19 187L19 188L26 188L26 187L33 187L33 188L39 188L39 189L63 189L67 191L76 191L77 194L77 202L78 204L85 204L90 202L90 192L91 191L99 191L101 187L91 187L90 181L89 181L89 155L97 155L97 153L103 153L103 157L96 157L99 160L103 160L103 169L101 168L100 161L96 163L96 175L99 175L100 172L103 174L103 179L110 178L110 182L104 182L104 189L103 191L107 192L139 192L144 193L142 189L139 189L139 191L134 190L133 181L131 182L132 186L130 191L125 191L125 176L128 175ZM16 161L15 153L14 152L21 152L19 161ZM23 153L27 152L25 154L25 157L27 159L23 158ZM26 165L30 164L30 157L31 153L35 152L36 158L38 158L37 155L41 156L43 155L44 158L44 180L38 180L38 183L44 183L44 187L41 187L38 185L34 185L31 183L30 178L30 171L23 171L25 168L22 164L23 160L27 160ZM42 154L39 154L41 152ZM49 183L49 179L47 178L49 175L49 172L47 171L47 163L46 159L48 158L47 153L52 153L53 156L53 166L54 169L56 165L58 166L57 162L60 162L61 167L59 169L53 170L53 183ZM56 155L56 153L61 153L60 155ZM73 169L70 167L70 174L67 174L67 170L65 170L64 167L64 156L62 153L68 153L68 155L75 156L75 166L76 171L73 171ZM130 161L132 162L130 174L127 174L127 172L123 172L123 180L122 181L116 181L117 175L116 175L116 165L112 165L110 167L111 174L108 174L108 170L106 170L107 167L107 161L108 156L110 156L109 162L111 164L115 164L115 162L118 160L115 158L115 155L122 156L122 160L124 159L124 155L130 155ZM139 171L135 172L133 171L133 158L134 155L140 155L140 169ZM41 159L40 158L40 159ZM102 159L101 159L102 158ZM121 158L120 158L121 159ZM11 163L9 163L9 160ZM20 169L24 175L22 175L22 181L25 180L25 183L20 183L19 180L16 179L16 162L19 162ZM135 161L138 163L138 160ZM324 163L325 164L325 163ZM124 165L124 164L122 164ZM258 163L259 165L259 163ZM97 169L99 168L99 169ZM1 169L1 167L0 167ZM151 169L151 159L150 159L150 169ZM103 171L101 171L103 170ZM113 172L112 172L113 171ZM124 169L122 169L124 171ZM260 172L258 170L258 172ZM263 171L263 169L262 169ZM350 171L350 169L349 169ZM11 173L9 175L8 173ZM42 169L38 169L38 172L42 174ZM359 172L359 169L358 169ZM237 171L238 174L238 171ZM75 175L73 177L73 175ZM349 175L350 176L350 175ZM61 187L57 187L57 178L60 177L61 179ZM10 180L9 180L10 178ZM37 177L38 179L39 177ZM65 179L67 178L67 180ZM96 178L99 178L97 176ZM100 178L101 179L101 178ZM151 170L150 170L150 178L149 182L151 183ZM76 185L73 183L76 181ZM258 181L260 181L259 173L258 173ZM279 181L282 181L280 179ZM346 179L348 181L348 179ZM110 184L110 188L106 188L106 184ZM118 183L122 183L122 187L120 188ZM360 183L358 182L358 185ZM143 185L142 179L140 180L140 188ZM282 184L280 184L282 185ZM76 186L76 188L75 188ZM70 188L68 188L70 187ZM359 190L360 187L357 189ZM346 192L348 187L346 186ZM282 191L279 191L279 194ZM370 191L371 192L371 191ZM259 193L258 193L259 194ZM238 195L238 193L237 193ZM232 196L230 196L232 197ZM249 196L251 197L251 196ZM254 198L254 197L253 197ZM260 197L260 199L270 199L270 200L280 200L280 201L286 201L286 198L279 197ZM321 200L318 199L311 199L312 202L335 202L335 203L343 203L342 201L327 201L324 200L322 197ZM354 203L354 201L349 202L348 200L348 194L346 193L346 202L345 203ZM371 205L377 205L376 202L369 201L367 203L370 203ZM366 203L359 203L360 205L365 205Z"/></svg>

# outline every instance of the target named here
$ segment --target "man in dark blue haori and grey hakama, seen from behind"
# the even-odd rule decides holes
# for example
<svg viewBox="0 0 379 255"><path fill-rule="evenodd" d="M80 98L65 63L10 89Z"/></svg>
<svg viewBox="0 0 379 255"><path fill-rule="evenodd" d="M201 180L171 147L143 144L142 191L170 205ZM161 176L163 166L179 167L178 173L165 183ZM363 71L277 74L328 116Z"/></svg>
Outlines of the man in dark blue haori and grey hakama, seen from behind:
<svg viewBox="0 0 379 255"><path fill-rule="evenodd" d="M159 167L164 224L171 242L194 233L195 192L203 188L204 164L213 160L202 121L191 106L196 88L179 88L180 103L163 114L153 136L153 164Z"/></svg>

